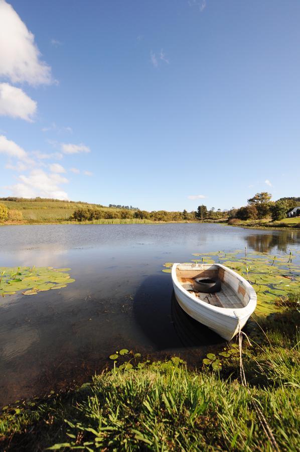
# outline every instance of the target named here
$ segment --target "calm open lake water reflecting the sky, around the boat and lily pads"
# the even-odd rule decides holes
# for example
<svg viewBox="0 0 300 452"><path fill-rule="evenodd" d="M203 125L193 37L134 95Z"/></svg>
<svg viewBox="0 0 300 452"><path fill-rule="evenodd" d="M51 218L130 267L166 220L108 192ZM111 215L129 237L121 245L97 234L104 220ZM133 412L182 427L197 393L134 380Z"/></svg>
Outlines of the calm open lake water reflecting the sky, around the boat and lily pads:
<svg viewBox="0 0 300 452"><path fill-rule="evenodd" d="M0 404L88 381L126 348L200 366L222 347L172 297L166 262L192 253L299 250L300 231L219 224L24 225L0 228L0 267L70 268L66 288L0 301Z"/></svg>

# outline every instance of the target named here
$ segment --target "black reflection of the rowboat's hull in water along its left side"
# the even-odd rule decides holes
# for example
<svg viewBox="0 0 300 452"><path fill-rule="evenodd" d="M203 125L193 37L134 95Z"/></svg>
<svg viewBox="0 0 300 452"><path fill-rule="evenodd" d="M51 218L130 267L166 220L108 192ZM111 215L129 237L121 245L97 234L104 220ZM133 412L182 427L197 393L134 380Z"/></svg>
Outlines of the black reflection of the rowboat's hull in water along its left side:
<svg viewBox="0 0 300 452"><path fill-rule="evenodd" d="M190 317L179 305L174 291L171 306L175 330L185 347L212 346L225 342L219 334Z"/></svg>

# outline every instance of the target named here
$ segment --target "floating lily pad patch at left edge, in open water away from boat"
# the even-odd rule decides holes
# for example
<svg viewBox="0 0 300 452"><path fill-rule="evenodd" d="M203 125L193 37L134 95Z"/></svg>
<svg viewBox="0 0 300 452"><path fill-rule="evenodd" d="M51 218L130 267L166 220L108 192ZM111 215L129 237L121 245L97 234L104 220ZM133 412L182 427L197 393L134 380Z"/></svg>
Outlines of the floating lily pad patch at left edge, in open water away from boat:
<svg viewBox="0 0 300 452"><path fill-rule="evenodd" d="M69 268L0 267L0 295L36 295L50 289L63 289L75 281L67 273Z"/></svg>

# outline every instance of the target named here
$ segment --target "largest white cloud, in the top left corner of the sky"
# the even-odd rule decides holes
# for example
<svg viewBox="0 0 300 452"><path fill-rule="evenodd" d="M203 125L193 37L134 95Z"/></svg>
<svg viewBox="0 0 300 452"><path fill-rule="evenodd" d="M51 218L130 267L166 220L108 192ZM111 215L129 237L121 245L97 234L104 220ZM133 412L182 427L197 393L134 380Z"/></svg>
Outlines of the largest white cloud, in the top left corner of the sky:
<svg viewBox="0 0 300 452"><path fill-rule="evenodd" d="M5 0L0 0L0 55L0 76L13 83L52 82L51 68L40 60L34 35Z"/></svg>

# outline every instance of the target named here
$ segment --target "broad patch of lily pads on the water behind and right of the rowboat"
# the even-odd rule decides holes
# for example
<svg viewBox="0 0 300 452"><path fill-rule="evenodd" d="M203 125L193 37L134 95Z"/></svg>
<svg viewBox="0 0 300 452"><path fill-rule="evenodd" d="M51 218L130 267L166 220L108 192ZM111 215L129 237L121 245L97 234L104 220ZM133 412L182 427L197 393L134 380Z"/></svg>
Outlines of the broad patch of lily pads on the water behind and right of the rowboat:
<svg viewBox="0 0 300 452"><path fill-rule="evenodd" d="M200 258L192 259L194 263L220 263L249 281L257 294L257 316L278 310L276 301L300 287L299 256L294 256L291 252L288 255L274 256L260 252L248 254L245 249L229 253L194 253L193 256ZM163 271L167 272L172 263L167 262L165 267Z"/></svg>

